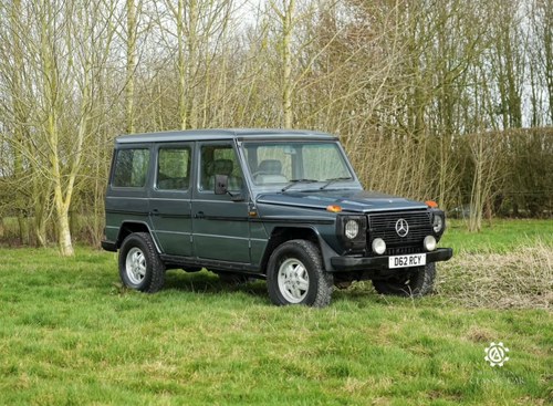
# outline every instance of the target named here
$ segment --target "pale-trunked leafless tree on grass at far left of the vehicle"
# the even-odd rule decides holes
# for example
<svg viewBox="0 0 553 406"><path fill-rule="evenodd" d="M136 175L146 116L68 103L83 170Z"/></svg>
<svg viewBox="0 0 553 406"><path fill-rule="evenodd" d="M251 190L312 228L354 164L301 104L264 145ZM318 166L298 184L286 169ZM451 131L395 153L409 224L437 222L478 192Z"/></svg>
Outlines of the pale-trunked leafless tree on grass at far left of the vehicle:
<svg viewBox="0 0 553 406"><path fill-rule="evenodd" d="M21 11L20 3L13 6ZM15 135L11 143L15 156L24 156L32 175L39 242L45 243L44 216L52 199L60 250L71 256L69 212L82 170L84 144L91 134L96 72L107 55L107 50L98 46L108 48L109 40L103 39L111 38L108 21L98 17L106 10L109 15L114 7L87 1L29 1L25 6L28 14L22 14L33 29L18 31L24 46L17 59L25 67L28 83L23 87L14 72L11 77L15 77L13 91L19 90L13 93L14 105L27 106L24 117L20 107L14 108L14 128L27 134ZM14 19L13 27L18 27L21 21Z"/></svg>

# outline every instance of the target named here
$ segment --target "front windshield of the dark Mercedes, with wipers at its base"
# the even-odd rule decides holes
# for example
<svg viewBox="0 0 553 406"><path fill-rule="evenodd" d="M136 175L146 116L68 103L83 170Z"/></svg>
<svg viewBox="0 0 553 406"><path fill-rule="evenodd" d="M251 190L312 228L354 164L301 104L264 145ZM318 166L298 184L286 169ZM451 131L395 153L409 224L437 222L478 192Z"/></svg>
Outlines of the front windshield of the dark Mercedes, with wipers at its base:
<svg viewBox="0 0 553 406"><path fill-rule="evenodd" d="M294 184L300 188L313 183L354 179L342 149L334 142L244 143L243 147L257 186L285 190Z"/></svg>

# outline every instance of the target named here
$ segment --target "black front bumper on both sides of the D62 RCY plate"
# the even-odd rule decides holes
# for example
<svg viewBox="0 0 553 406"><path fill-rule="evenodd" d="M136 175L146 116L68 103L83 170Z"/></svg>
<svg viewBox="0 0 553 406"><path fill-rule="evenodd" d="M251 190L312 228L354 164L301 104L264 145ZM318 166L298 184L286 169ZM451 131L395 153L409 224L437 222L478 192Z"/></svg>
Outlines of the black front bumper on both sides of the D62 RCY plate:
<svg viewBox="0 0 553 406"><path fill-rule="evenodd" d="M438 248L432 252L426 253L426 263L447 261L453 256L451 248ZM334 270L332 272L348 272L348 271L367 271L367 270L384 270L388 268L389 256L380 257L333 257L331 264Z"/></svg>

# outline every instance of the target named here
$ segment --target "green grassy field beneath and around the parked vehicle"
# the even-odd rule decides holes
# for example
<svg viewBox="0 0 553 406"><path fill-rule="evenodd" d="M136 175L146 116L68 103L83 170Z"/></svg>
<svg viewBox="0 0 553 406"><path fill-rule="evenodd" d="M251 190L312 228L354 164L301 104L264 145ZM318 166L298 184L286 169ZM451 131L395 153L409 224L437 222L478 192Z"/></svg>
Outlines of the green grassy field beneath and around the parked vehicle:
<svg viewBox="0 0 553 406"><path fill-rule="evenodd" d="M437 294L356 283L323 310L208 272L169 271L146 295L121 287L113 253L0 249L0 404L546 405L552 236L552 221L452 223ZM498 291L518 296L482 300ZM510 348L503 367L484 361L491 342Z"/></svg>

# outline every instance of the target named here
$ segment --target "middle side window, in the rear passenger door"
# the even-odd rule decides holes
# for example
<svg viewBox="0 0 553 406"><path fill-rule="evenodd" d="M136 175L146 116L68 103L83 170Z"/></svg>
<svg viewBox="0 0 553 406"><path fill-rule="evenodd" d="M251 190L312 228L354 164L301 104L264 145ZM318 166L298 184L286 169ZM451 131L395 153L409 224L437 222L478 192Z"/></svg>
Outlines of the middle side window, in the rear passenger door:
<svg viewBox="0 0 553 406"><path fill-rule="evenodd" d="M190 149L159 148L157 188L186 190L190 183Z"/></svg>

